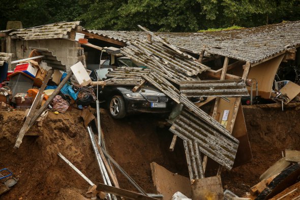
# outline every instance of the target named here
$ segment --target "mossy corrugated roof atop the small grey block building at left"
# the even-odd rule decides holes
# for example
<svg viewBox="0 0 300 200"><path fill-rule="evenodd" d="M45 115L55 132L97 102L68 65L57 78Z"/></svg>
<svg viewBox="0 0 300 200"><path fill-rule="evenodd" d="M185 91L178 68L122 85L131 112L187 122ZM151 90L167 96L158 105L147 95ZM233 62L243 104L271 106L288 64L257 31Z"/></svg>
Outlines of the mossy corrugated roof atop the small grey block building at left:
<svg viewBox="0 0 300 200"><path fill-rule="evenodd" d="M32 28L23 28L10 33L9 35L16 36L23 40L63 38L68 35L73 28L79 25L79 23L80 21L60 22Z"/></svg>

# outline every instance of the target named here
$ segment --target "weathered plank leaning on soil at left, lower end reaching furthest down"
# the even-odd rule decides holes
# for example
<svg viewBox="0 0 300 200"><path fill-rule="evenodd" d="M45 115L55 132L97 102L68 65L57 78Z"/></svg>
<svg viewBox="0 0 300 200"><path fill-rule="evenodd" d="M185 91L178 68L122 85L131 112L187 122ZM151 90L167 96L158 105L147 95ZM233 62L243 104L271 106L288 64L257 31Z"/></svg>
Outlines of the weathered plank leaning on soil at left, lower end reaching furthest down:
<svg viewBox="0 0 300 200"><path fill-rule="evenodd" d="M37 108L38 103L39 103L39 101L41 99L41 96L42 96L42 94L43 94L43 92L44 92L44 90L45 90L45 88L47 86L47 83L48 83L49 79L51 78L51 75L53 74L53 71L54 70L49 70L48 71L48 73L47 73L47 75L46 75L46 77L44 79L44 82L43 82L43 84L42 84L42 86L41 86L41 88L40 88L40 90L39 90L39 92L38 92L38 94L37 94L37 96L36 96L36 98L35 98L32 106L31 106L31 108L29 109L29 112L27 114L26 120L25 120L25 122L24 122L24 124L23 124L23 126L22 126L22 128L21 128L21 130L20 130L20 132L18 134L18 136L17 136L17 140L16 140L15 147L14 147L15 149L19 148L20 145L21 145L21 143L22 143L22 139L23 139L25 133L28 130L28 127L29 127L29 125L30 125L30 123L32 121L32 118L36 114L36 108ZM35 119L35 121L36 120L37 120L37 118Z"/></svg>

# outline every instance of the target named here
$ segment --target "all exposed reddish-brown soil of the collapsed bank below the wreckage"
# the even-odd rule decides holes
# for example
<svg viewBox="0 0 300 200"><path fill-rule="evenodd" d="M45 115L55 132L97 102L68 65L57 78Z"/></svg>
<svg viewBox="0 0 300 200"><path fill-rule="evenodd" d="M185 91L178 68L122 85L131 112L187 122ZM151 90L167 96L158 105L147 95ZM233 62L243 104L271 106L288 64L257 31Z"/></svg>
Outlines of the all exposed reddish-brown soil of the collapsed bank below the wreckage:
<svg viewBox="0 0 300 200"><path fill-rule="evenodd" d="M244 107L253 152L253 160L222 173L224 188L242 196L248 186L259 182L259 176L282 157L285 149L300 150L299 107ZM73 109L65 114L49 112L42 128L30 131L41 136L25 136L14 150L22 126L24 111L0 111L0 168L8 167L19 178L18 183L0 199L85 199L88 184L61 158L61 152L94 183L101 182L100 171L88 133ZM168 148L172 134L158 128L154 115L130 116L113 120L101 110L101 125L110 155L148 193L156 193L150 163L156 162L173 173L188 177L182 141L177 139L174 152ZM115 168L119 185L135 188Z"/></svg>

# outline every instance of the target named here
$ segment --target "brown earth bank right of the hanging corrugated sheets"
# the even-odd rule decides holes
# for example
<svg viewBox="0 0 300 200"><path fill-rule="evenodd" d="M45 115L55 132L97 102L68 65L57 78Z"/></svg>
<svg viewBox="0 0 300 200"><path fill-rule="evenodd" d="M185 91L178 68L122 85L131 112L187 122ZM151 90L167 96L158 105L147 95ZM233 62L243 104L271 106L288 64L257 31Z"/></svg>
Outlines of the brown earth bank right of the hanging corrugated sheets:
<svg viewBox="0 0 300 200"><path fill-rule="evenodd" d="M253 160L222 173L223 185L237 195L243 195L260 182L260 175L268 167L282 158L282 151L300 150L298 108L285 108L282 111L281 107L243 107Z"/></svg>

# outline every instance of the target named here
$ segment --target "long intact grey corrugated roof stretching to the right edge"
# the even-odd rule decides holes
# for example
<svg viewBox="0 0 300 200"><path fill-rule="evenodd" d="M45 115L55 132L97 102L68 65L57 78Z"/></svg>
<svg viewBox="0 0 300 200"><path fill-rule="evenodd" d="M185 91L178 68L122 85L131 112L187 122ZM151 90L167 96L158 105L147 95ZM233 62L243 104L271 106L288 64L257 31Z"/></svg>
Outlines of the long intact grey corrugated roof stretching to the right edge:
<svg viewBox="0 0 300 200"><path fill-rule="evenodd" d="M145 32L88 31L107 38L126 42L145 40ZM257 63L289 47L300 45L300 21L289 21L240 30L203 33L155 33L178 48L199 54L212 54Z"/></svg>

